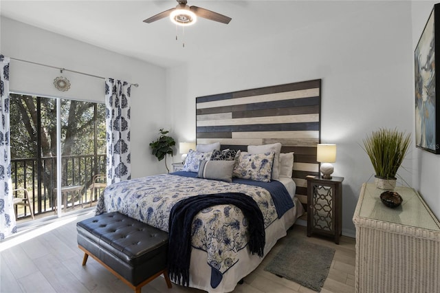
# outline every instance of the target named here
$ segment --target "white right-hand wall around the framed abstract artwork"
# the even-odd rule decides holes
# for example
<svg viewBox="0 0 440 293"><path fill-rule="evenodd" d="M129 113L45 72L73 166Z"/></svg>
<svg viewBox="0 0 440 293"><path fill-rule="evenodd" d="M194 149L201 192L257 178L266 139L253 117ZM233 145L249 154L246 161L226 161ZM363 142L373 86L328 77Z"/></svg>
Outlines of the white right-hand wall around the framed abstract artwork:
<svg viewBox="0 0 440 293"><path fill-rule="evenodd" d="M413 1L411 3L412 54L414 54L421 32L425 28L426 21L428 21L435 3L437 1ZM413 121L413 124L415 124L415 111L413 112ZM414 172L412 180L414 188L425 199L434 215L440 219L440 155L434 155L428 151L415 148L413 158Z"/></svg>

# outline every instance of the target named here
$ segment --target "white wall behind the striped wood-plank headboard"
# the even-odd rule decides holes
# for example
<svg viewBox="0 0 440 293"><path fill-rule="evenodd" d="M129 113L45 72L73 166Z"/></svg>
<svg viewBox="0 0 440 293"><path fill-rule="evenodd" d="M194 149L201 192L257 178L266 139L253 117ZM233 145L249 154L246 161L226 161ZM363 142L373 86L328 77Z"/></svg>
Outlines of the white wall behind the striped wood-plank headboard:
<svg viewBox="0 0 440 293"><path fill-rule="evenodd" d="M358 13L346 13L344 3L358 6ZM322 1L319 9L331 5L335 3ZM411 4L338 5L340 15L332 22L292 28L254 43L238 41L228 52L169 69L167 95L173 105L173 128L183 141L195 138L197 96L322 78L322 142L338 144L334 175L345 177L342 230L354 236L352 218L360 186L373 175L362 139L378 127L407 132L414 128ZM289 19L273 19L268 25L285 28ZM404 166L412 170L412 160ZM410 173L399 173L412 184Z"/></svg>

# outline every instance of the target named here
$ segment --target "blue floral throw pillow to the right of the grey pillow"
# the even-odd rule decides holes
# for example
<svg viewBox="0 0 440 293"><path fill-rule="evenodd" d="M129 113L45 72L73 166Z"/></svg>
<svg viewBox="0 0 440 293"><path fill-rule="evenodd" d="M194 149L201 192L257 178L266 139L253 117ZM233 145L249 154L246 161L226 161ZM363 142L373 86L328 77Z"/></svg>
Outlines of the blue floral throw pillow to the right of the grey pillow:
<svg viewBox="0 0 440 293"><path fill-rule="evenodd" d="M232 175L241 179L270 182L275 153L240 153Z"/></svg>

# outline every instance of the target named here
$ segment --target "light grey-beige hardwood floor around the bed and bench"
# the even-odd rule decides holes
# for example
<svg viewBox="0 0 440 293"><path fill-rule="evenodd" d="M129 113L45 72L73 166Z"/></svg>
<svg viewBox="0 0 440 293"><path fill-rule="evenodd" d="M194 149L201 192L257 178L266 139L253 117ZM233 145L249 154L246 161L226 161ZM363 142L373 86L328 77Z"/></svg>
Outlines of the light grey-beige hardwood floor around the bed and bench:
<svg viewBox="0 0 440 293"><path fill-rule="evenodd" d="M83 252L76 243L76 222L91 216L89 213L74 217L63 226L14 246L9 241L19 242L19 237L31 235L32 232L0 243L0 292L133 292L94 259L89 258L84 267L81 265ZM303 226L295 225L288 233L307 238ZM342 237L340 245L321 237L310 237L307 241L336 249L329 276L321 292L354 292L355 239ZM283 245L283 239L278 241L263 263L246 276L244 283L237 285L234 292L314 292L298 283L265 272L265 265ZM164 279L159 277L142 287L142 292L203 291L175 284L172 289L168 289Z"/></svg>

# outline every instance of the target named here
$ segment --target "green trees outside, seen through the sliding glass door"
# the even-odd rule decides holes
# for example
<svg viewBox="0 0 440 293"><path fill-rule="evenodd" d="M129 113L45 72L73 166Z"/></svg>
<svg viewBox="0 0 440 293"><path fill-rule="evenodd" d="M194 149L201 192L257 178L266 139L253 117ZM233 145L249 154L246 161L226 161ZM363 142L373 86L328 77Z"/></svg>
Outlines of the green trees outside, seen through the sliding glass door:
<svg viewBox="0 0 440 293"><path fill-rule="evenodd" d="M51 184L56 182L56 164L50 163L56 162L56 102L56 98L10 95L11 159L16 161L11 170L13 182L18 186L36 184L34 177L37 175L33 172L36 170L37 153L41 151L43 171L39 177L46 194L52 193ZM100 165L104 164L98 161L98 166L95 166L95 158L92 160L76 157L93 157L95 154L101 155L100 158L102 155L105 157L105 105L61 99L60 118L62 184L78 184L78 180L83 180L83 184L87 178L91 178L91 172L102 170ZM103 168L105 169L105 165Z"/></svg>

